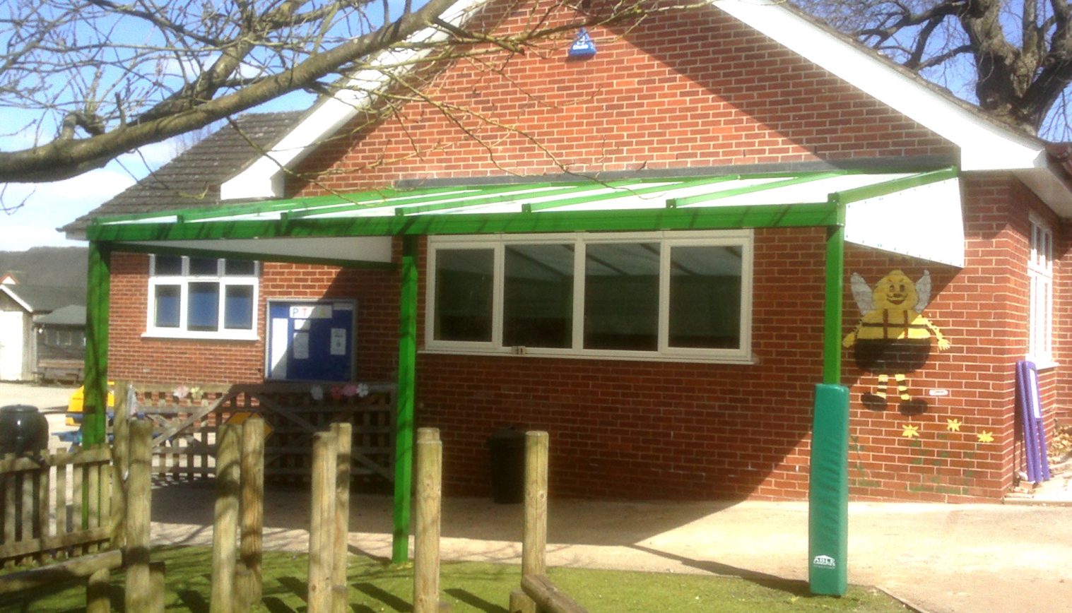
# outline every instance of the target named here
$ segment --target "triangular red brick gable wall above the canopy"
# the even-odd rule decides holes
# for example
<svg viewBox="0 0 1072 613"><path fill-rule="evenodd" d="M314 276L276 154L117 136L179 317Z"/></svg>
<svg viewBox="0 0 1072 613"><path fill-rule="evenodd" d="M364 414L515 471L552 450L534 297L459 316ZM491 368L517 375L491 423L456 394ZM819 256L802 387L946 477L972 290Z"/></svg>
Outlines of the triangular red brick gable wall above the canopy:
<svg viewBox="0 0 1072 613"><path fill-rule="evenodd" d="M504 28L517 30L528 15ZM715 9L652 16L621 33L593 29L599 50L587 61L566 59L568 40L542 53L482 56L480 64L460 59L427 90L449 114L411 103L373 130L359 116L354 136L299 168L318 179L292 190L954 152Z"/></svg>

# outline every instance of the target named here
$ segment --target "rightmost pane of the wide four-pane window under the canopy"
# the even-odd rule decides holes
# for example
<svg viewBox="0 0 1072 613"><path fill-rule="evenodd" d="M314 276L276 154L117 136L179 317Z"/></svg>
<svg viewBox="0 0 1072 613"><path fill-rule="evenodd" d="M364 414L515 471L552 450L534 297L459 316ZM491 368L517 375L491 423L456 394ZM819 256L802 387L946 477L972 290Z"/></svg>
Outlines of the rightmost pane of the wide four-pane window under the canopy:
<svg viewBox="0 0 1072 613"><path fill-rule="evenodd" d="M741 346L741 248L670 250L670 346Z"/></svg>

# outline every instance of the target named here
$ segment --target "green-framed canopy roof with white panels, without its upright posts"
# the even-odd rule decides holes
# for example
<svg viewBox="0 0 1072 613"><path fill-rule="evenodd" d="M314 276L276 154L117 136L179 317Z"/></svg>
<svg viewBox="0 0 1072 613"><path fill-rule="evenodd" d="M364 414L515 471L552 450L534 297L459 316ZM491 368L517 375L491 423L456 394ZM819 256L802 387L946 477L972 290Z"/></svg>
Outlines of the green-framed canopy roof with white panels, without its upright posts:
<svg viewBox="0 0 1072 613"><path fill-rule="evenodd" d="M900 235L928 224L909 221L891 233L890 220L912 216L894 209L908 206L923 206L912 215L940 220L941 227L923 241ZM959 253L963 264L954 168L385 189L102 218L88 236L138 251L389 263L385 239L397 235L835 226L846 223L846 210L847 240L954 265ZM936 239L943 246L927 249Z"/></svg>

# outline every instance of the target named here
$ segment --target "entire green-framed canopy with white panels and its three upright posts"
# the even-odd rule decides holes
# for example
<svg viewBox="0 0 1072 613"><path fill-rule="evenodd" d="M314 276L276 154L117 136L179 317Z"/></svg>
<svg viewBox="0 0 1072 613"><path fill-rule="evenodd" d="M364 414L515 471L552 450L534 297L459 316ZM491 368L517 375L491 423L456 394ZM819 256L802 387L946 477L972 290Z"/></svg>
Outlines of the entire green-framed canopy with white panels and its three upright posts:
<svg viewBox="0 0 1072 613"><path fill-rule="evenodd" d="M398 368L393 559L407 557L417 352L417 237L569 231L827 228L822 382L816 394L809 491L812 589L846 589L848 392L842 387L845 242L963 263L963 229L890 231L890 207L948 209L961 227L955 168L905 173L836 170L623 181L544 181L388 189L212 209L102 218L91 241L87 339L87 442L103 440L107 359L107 255L113 251L214 254L285 261L393 266L403 237ZM899 209L898 209L899 210ZM896 211L894 211L896 212ZM905 215L895 215L897 219ZM910 215L909 215L910 216ZM878 222L874 220L878 219ZM908 219L905 223L912 223ZM896 222L895 222L896 223ZM853 226L859 229L853 229ZM928 228L923 228L923 233ZM891 237L892 235L897 235ZM909 240L910 239L910 240ZM384 241L388 242L384 242ZM959 242L958 242L959 241ZM325 249L329 246L330 249ZM327 252L327 253L326 253ZM94 294L93 287L99 289ZM94 324L95 322L95 324ZM823 468L824 470L819 470ZM827 470L829 468L829 470Z"/></svg>

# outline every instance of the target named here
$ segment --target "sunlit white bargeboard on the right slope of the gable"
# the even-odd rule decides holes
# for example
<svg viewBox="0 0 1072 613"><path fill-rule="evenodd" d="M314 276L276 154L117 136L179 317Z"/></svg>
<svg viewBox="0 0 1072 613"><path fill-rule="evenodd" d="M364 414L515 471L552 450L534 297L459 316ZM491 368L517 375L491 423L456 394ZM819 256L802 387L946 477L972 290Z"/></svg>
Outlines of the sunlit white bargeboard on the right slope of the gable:
<svg viewBox="0 0 1072 613"><path fill-rule="evenodd" d="M712 4L822 66L961 148L962 170L1046 166L1041 141L1001 129L917 83L869 50L830 35L778 2L713 0Z"/></svg>

